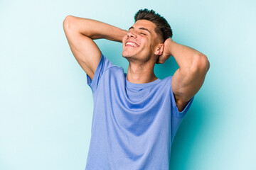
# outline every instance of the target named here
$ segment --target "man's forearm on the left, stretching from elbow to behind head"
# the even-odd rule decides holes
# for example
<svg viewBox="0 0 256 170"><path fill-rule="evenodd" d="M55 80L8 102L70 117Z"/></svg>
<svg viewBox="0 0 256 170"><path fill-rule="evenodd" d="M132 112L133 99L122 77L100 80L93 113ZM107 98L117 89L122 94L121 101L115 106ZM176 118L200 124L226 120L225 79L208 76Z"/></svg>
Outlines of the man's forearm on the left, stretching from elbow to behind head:
<svg viewBox="0 0 256 170"><path fill-rule="evenodd" d="M127 35L127 30L122 30L121 28L89 18L67 16L64 23L68 29L76 30L82 35L92 38L92 40L105 38L122 42L124 35Z"/></svg>

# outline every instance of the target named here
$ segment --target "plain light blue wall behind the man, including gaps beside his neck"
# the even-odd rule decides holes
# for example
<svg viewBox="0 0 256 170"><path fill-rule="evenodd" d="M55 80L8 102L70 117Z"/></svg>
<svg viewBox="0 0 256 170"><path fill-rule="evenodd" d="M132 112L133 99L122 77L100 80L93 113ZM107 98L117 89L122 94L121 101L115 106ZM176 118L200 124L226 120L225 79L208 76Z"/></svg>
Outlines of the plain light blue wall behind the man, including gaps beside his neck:
<svg viewBox="0 0 256 170"><path fill-rule="evenodd" d="M92 92L63 31L65 16L128 29L153 8L173 39L203 52L210 70L177 131L171 169L256 169L255 1L0 1L0 169L85 169ZM122 44L96 40L127 72ZM155 67L160 79L174 58Z"/></svg>

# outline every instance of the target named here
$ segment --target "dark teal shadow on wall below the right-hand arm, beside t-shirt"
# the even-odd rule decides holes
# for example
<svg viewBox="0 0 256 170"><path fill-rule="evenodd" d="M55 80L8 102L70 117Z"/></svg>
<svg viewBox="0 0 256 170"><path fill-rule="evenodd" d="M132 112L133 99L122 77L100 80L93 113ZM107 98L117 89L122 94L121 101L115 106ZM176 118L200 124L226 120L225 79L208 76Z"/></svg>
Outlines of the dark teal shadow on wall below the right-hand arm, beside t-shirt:
<svg viewBox="0 0 256 170"><path fill-rule="evenodd" d="M171 146L171 169L185 170L190 166L187 163L193 161L193 149L198 145L198 140L210 121L207 104L201 104L205 100L197 97L195 96L174 137Z"/></svg>

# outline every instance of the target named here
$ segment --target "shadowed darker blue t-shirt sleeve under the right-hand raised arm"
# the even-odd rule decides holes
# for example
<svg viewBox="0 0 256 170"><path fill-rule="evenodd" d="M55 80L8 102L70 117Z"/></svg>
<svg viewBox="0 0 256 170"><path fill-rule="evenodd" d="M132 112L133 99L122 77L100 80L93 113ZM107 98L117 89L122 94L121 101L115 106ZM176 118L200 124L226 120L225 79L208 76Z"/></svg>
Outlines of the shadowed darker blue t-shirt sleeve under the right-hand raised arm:
<svg viewBox="0 0 256 170"><path fill-rule="evenodd" d="M172 137L172 140L174 140L176 131L178 130L178 127L181 124L181 121L183 120L184 116L188 112L188 109L191 107L191 103L193 102L193 99L195 98L195 96L191 98L191 100L187 103L183 111L178 111L178 107L176 106L172 87L170 88L170 94L171 94L171 137Z"/></svg>

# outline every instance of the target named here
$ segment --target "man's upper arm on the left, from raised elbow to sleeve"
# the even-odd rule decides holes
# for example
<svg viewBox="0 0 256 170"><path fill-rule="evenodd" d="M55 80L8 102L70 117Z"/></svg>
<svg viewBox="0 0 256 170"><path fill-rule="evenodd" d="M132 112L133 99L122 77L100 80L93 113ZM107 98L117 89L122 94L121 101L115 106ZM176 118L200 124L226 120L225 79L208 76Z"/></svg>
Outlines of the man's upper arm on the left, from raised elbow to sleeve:
<svg viewBox="0 0 256 170"><path fill-rule="evenodd" d="M92 79L100 62L101 52L91 38L82 35L82 33L75 29L75 22L72 16L65 18L63 21L65 35L75 59Z"/></svg>

